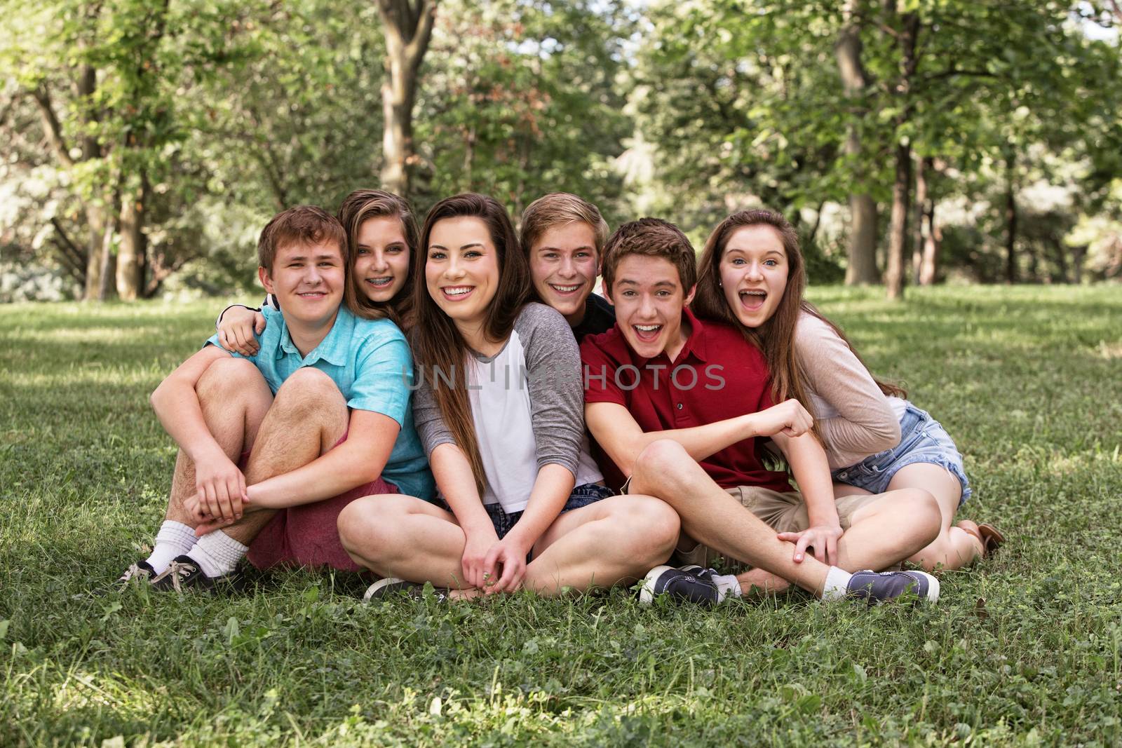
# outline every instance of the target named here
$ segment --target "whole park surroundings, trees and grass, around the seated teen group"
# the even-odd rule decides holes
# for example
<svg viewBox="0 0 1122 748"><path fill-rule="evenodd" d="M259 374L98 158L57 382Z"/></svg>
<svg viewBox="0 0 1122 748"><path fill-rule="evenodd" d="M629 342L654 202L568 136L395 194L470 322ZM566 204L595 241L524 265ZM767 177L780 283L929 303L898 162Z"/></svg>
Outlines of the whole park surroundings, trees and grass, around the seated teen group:
<svg viewBox="0 0 1122 748"><path fill-rule="evenodd" d="M7 0L0 745L1119 745L1120 26L1114 0ZM963 516L1009 544L918 610L362 604L312 571L104 593L168 488L148 394L259 297L273 213L360 186L515 216L568 190L698 244L782 210L811 299L946 425Z"/></svg>

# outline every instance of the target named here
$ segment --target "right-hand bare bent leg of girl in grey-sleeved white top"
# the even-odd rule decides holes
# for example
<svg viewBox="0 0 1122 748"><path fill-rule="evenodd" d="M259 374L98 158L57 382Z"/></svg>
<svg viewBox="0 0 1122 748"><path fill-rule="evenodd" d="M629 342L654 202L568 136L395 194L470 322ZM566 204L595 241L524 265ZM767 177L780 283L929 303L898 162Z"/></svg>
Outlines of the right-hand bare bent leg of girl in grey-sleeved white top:
<svg viewBox="0 0 1122 748"><path fill-rule="evenodd" d="M678 541L678 515L650 496L613 496L559 516L534 545L523 585L542 595L642 579Z"/></svg>

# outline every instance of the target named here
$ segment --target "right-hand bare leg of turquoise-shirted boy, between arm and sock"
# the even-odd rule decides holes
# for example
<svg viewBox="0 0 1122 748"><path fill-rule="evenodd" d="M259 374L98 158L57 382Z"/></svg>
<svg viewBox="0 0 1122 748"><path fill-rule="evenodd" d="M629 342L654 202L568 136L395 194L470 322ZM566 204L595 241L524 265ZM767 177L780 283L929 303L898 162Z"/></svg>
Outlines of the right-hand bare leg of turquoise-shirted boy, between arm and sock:
<svg viewBox="0 0 1122 748"><path fill-rule="evenodd" d="M312 462L347 432L348 417L347 401L331 378L318 369L300 369L277 390L261 421L246 465L246 484ZM249 510L221 532L249 545L275 514L275 509Z"/></svg>

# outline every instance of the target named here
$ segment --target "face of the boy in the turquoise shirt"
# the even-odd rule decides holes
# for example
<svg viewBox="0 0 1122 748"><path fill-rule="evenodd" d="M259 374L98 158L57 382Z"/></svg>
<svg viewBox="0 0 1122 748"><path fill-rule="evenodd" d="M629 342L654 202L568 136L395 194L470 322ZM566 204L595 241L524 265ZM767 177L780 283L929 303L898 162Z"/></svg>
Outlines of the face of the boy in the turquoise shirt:
<svg viewBox="0 0 1122 748"><path fill-rule="evenodd" d="M284 244L276 250L273 269L258 268L258 276L265 289L276 294L289 324L322 324L343 301L343 255L332 240Z"/></svg>

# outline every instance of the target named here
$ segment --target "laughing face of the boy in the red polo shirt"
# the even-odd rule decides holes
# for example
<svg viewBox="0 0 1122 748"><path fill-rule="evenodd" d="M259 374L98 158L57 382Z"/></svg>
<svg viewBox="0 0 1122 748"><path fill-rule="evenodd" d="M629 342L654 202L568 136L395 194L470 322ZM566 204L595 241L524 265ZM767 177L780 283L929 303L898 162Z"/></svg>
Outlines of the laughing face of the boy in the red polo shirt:
<svg viewBox="0 0 1122 748"><path fill-rule="evenodd" d="M682 288L678 268L662 257L627 255L616 266L610 301L616 322L637 354L652 359L662 352L673 360L686 344L682 307L693 289Z"/></svg>

